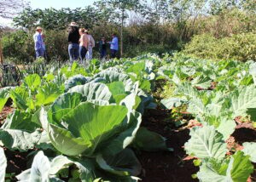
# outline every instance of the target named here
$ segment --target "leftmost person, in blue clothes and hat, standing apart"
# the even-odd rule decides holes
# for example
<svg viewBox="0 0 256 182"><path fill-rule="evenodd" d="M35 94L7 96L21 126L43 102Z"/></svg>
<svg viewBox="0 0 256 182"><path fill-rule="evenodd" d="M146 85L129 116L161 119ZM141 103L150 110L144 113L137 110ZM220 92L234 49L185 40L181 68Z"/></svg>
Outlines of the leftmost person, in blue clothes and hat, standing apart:
<svg viewBox="0 0 256 182"><path fill-rule="evenodd" d="M36 58L44 57L44 40L41 33L42 27L38 26L36 28L36 33L33 35L33 39L35 42Z"/></svg>

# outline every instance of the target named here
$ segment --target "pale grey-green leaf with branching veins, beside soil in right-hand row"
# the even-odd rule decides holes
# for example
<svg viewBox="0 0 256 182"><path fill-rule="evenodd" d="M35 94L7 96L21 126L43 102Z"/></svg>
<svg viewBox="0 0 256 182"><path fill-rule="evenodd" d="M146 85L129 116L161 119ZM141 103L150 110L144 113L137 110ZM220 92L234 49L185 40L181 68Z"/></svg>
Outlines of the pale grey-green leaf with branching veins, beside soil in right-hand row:
<svg viewBox="0 0 256 182"><path fill-rule="evenodd" d="M189 155L198 158L224 158L227 149L222 134L219 134L214 127L204 126L203 128L191 128L191 138L185 143L185 150Z"/></svg>

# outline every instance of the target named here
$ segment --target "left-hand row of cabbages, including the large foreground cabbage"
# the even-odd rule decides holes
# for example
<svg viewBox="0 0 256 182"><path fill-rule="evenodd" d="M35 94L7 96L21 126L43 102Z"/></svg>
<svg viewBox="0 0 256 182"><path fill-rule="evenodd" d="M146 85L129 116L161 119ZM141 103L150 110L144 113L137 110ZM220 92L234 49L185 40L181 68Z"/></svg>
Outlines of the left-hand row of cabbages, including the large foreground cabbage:
<svg viewBox="0 0 256 182"><path fill-rule="evenodd" d="M0 144L35 155L32 167L16 178L137 181L142 167L134 149L170 151L163 137L140 127L143 111L156 106L150 96L154 73L146 65L130 62L127 69L111 67L93 77L29 75L20 87L2 88L0 109L11 98L15 111L0 129ZM3 181L1 148L0 155Z"/></svg>

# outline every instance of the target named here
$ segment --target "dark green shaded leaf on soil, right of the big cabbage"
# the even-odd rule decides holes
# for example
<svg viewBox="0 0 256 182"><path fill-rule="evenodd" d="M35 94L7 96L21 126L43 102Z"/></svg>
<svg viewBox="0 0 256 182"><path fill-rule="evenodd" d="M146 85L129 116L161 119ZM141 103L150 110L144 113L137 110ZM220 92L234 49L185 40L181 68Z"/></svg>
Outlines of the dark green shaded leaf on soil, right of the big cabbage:
<svg viewBox="0 0 256 182"><path fill-rule="evenodd" d="M132 145L143 151L173 151L166 146L166 139L160 134L139 128Z"/></svg>

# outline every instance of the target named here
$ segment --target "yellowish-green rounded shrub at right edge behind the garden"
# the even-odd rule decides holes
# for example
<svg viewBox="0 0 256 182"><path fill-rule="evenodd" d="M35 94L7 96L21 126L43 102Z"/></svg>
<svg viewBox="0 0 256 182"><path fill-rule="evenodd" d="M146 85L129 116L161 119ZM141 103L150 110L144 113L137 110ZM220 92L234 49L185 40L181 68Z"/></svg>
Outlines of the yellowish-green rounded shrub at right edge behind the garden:
<svg viewBox="0 0 256 182"><path fill-rule="evenodd" d="M185 45L182 53L212 60L256 60L256 34L241 33L224 38L198 35Z"/></svg>

